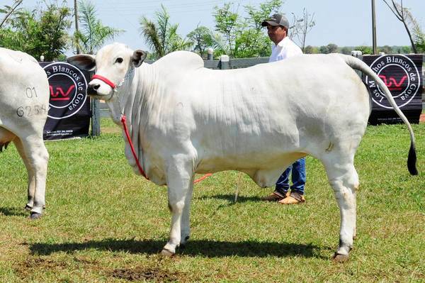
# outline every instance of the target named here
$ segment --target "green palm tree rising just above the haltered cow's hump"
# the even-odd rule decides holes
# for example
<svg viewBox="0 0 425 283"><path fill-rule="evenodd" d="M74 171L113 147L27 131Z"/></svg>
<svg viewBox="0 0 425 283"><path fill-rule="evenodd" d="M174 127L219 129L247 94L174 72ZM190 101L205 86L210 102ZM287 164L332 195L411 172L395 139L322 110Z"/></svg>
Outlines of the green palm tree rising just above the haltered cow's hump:
<svg viewBox="0 0 425 283"><path fill-rule="evenodd" d="M151 50L154 50L154 57L162 57L169 52L176 50L187 50L193 43L181 38L177 33L179 24L171 24L170 16L164 5L161 5L162 11L156 13L157 23L150 21L147 17L140 18L140 31L145 37L145 41Z"/></svg>

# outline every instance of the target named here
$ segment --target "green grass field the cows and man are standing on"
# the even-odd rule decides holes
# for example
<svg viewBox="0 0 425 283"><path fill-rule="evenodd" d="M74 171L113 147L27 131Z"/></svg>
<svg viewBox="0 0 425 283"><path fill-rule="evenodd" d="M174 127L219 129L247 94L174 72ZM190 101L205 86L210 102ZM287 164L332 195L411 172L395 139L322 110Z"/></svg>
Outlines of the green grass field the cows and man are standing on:
<svg viewBox="0 0 425 283"><path fill-rule="evenodd" d="M356 155L358 237L331 261L339 209L323 166L307 158L307 202L260 201L272 191L238 172L196 185L191 241L158 255L169 233L166 187L137 177L123 138L48 142L47 208L28 220L26 170L1 153L0 282L425 282L425 124L414 125L419 176L409 176L405 126L369 127Z"/></svg>

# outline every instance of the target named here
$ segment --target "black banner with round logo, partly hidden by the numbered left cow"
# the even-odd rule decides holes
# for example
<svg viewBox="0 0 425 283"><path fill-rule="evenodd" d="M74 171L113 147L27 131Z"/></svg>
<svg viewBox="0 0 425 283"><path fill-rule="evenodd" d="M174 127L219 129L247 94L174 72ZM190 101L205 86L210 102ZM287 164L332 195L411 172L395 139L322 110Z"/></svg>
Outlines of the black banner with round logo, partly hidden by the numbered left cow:
<svg viewBox="0 0 425 283"><path fill-rule="evenodd" d="M89 135L89 73L67 62L40 62L50 84L50 103L43 138L58 140Z"/></svg>

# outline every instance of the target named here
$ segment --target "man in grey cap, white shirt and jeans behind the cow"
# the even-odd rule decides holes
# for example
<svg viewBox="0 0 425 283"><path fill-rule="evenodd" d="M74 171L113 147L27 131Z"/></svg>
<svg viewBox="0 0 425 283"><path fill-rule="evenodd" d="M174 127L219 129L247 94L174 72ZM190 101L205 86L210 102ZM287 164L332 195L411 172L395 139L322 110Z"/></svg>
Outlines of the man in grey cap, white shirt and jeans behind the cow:
<svg viewBox="0 0 425 283"><path fill-rule="evenodd" d="M271 18L261 23L261 26L267 27L268 37L275 44L271 51L268 62L285 60L302 54L302 50L288 38L289 22L285 16L275 13ZM292 170L291 179L293 185L289 187L289 174ZM275 191L263 198L265 201L278 201L279 204L300 204L305 202L305 158L301 158L290 165L283 172L278 182L276 182ZM290 192L289 192L290 189Z"/></svg>

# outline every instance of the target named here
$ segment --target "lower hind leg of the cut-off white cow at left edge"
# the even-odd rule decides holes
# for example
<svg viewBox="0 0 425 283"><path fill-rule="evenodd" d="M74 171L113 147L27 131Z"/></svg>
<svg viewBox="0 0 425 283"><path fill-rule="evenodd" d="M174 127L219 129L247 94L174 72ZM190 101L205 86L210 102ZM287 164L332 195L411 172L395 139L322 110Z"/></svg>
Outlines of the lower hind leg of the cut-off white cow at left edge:
<svg viewBox="0 0 425 283"><path fill-rule="evenodd" d="M28 202L26 209L31 211L31 218L40 218L45 206L45 186L49 154L42 138L29 137L26 140L16 138L16 148L28 171Z"/></svg>

